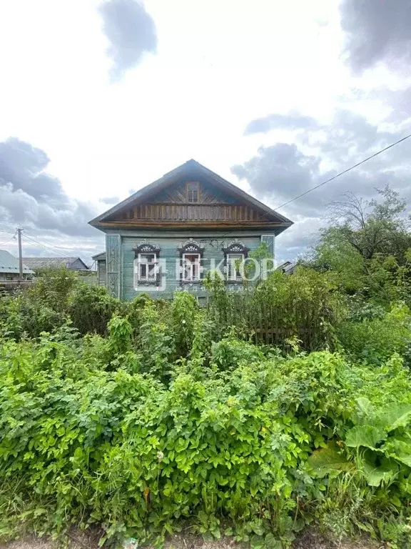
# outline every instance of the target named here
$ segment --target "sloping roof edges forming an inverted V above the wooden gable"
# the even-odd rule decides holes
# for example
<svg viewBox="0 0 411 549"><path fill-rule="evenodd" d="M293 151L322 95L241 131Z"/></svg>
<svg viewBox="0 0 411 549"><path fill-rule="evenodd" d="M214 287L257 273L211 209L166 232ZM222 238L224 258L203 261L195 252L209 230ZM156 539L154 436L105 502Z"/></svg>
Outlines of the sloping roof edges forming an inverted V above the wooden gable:
<svg viewBox="0 0 411 549"><path fill-rule="evenodd" d="M263 204L263 202L260 202L256 198L252 197L250 194L244 192L236 185L233 185L226 179L223 179L223 177L220 177L218 174L215 174L215 172L212 172L210 169L206 168L205 166L203 166L199 162L196 162L196 160L193 159L188 160L188 162L185 162L184 164L181 164L181 166L178 166L177 168L171 170L171 172L163 175L163 177L161 177L160 179L157 179L153 183L146 185L146 187L143 187L143 189L140 189L134 194L131 194L130 197L126 198L122 202L119 202L118 204L116 204L116 206L113 206L106 212L103 212L103 214L100 214L94 219L91 219L91 221L89 221L88 223L93 225L93 227L98 227L98 224L106 221L106 219L113 216L113 214L116 214L117 212L119 212L123 208L130 206L131 204L135 205L139 202L142 202L144 199L147 199L152 194L176 182L176 177L178 177L178 175L183 176L188 172L190 174L192 174L193 172L197 172L198 174L203 175L210 182L215 184L216 187L224 189L228 193L233 194L235 197L242 199L248 204L253 204L253 206L263 210L263 212L265 212L266 214L275 217L278 222L285 224L286 227L293 224L293 222L290 221L290 219L288 219L287 217L266 206L265 204Z"/></svg>

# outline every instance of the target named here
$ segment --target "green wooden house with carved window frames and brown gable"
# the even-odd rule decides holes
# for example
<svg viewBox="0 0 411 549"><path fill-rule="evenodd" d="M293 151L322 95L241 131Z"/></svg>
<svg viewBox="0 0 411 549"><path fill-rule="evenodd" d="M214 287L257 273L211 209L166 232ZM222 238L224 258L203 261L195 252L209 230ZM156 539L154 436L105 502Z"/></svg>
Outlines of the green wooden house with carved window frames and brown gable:
<svg viewBox="0 0 411 549"><path fill-rule="evenodd" d="M218 267L230 287L239 264L293 222L210 169L189 160L90 222L106 233L106 257L94 256L112 295L206 295L202 279ZM223 268L221 269L221 266Z"/></svg>

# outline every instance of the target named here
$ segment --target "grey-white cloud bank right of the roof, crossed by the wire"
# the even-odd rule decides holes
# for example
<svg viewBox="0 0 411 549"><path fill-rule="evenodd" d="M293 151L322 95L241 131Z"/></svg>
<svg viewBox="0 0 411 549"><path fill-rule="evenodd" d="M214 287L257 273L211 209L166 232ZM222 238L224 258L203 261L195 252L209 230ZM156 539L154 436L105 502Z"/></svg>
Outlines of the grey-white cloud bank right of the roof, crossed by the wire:
<svg viewBox="0 0 411 549"><path fill-rule="evenodd" d="M248 182L251 194L271 207L294 199L402 137L342 109L335 112L330 124L318 125L313 132L306 131L304 117L300 127L296 120L298 116L293 113L288 124L293 130L293 144L260 147L253 157L231 168L238 179ZM375 188L388 183L411 201L410 179L409 147L404 143L291 202L279 210L295 222L278 239L279 257L292 259L302 252L308 235L327 223L328 204L345 192L369 198L375 196Z"/></svg>

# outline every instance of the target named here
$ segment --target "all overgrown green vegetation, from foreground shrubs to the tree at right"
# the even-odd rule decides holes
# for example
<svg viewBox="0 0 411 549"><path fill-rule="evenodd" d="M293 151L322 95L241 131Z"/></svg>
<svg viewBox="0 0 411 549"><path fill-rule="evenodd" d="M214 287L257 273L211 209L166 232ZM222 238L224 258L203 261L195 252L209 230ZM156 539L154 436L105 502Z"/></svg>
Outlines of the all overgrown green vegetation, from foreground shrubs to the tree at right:
<svg viewBox="0 0 411 549"><path fill-rule="evenodd" d="M113 545L188 528L275 549L314 522L411 547L411 254L384 192L292 276L247 295L210 278L205 308L65 269L1 297L1 538L97 524Z"/></svg>

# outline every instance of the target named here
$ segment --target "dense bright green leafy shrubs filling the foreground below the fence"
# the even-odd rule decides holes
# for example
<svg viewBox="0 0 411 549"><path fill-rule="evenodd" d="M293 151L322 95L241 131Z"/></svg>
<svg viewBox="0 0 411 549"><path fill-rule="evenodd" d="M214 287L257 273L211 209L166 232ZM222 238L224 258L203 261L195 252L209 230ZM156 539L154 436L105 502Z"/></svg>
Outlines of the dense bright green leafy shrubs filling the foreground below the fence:
<svg viewBox="0 0 411 549"><path fill-rule="evenodd" d="M64 328L1 345L2 532L24 517L41 531L98 523L105 538L143 543L186 520L194 532L280 548L340 508L341 532L363 521L402 543L411 381L399 357L380 366L327 351L282 357L230 335L198 377L171 362L153 302L143 312L137 354L118 316L108 340Z"/></svg>

